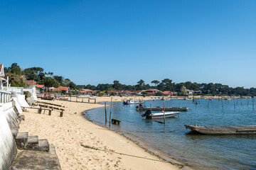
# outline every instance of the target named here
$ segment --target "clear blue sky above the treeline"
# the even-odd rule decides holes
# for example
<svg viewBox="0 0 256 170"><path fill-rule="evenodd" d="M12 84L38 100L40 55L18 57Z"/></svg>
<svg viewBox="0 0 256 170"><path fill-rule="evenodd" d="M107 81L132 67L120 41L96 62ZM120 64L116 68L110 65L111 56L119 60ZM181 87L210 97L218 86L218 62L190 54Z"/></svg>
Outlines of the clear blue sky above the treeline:
<svg viewBox="0 0 256 170"><path fill-rule="evenodd" d="M256 87L256 1L0 1L0 62L75 84Z"/></svg>

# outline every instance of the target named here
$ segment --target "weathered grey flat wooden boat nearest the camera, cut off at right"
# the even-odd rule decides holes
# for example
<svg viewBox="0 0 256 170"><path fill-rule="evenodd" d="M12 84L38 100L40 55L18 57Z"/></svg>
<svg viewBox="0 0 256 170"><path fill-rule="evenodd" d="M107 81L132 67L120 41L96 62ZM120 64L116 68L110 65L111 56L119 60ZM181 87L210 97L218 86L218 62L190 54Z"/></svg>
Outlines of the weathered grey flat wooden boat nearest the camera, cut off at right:
<svg viewBox="0 0 256 170"><path fill-rule="evenodd" d="M185 125L191 132L200 132L206 135L256 135L256 125L245 126L200 126Z"/></svg>

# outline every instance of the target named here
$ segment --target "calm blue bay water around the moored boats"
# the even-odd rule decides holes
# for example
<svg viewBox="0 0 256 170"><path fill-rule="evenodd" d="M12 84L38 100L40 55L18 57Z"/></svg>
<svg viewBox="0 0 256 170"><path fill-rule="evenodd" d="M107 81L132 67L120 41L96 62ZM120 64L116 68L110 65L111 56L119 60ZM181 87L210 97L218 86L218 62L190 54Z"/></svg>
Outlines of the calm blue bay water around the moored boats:
<svg viewBox="0 0 256 170"><path fill-rule="evenodd" d="M247 103L249 101L249 105ZM234 109L235 102L235 109ZM145 101L149 106L163 106L164 101ZM242 103L242 104L241 104ZM107 103L110 104L110 103ZM181 112L176 118L166 119L166 125L142 118L134 105L124 106L114 102L112 118L122 120L121 125L111 125L114 130L130 133L142 140L146 147L168 155L193 169L256 169L256 135L191 135L184 125L255 125L256 111L252 110L252 99L218 99L210 101L171 100L166 107L187 106L191 110ZM256 110L256 108L255 108ZM109 117L110 107L107 107ZM104 108L87 111L85 117L100 125L105 125ZM109 118L107 118L109 120ZM109 124L107 124L108 127Z"/></svg>

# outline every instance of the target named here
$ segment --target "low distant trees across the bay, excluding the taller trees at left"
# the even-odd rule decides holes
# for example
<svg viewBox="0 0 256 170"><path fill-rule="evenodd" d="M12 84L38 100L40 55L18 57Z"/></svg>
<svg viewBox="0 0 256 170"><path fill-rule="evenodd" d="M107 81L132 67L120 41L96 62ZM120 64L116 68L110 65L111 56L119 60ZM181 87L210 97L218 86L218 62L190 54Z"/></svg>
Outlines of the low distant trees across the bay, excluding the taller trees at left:
<svg viewBox="0 0 256 170"><path fill-rule="evenodd" d="M91 90L100 90L100 91L112 91L112 90L127 90L127 91L139 91L146 89L159 89L160 91L175 91L180 92L181 87L185 86L186 89L193 90L196 94L203 95L235 95L235 96L256 96L256 89L250 88L245 89L244 87L236 87L232 88L228 85L223 84L198 84L192 83L191 81L186 81L184 83L174 83L171 79L164 79L162 81L151 81L151 84L154 86L150 86L149 84L145 84L145 82L141 79L137 82L136 85L125 85L120 84L119 81L115 80L113 84L98 84L97 86L93 85L78 85L79 89L91 89Z"/></svg>

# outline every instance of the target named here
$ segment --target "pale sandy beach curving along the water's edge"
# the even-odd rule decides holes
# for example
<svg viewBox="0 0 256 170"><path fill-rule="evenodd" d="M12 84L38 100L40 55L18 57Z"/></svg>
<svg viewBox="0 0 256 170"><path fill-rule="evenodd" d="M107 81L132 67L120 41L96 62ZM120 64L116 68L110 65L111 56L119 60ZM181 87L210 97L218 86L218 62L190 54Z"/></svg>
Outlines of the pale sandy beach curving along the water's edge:
<svg viewBox="0 0 256 170"><path fill-rule="evenodd" d="M114 97L113 101L123 99ZM143 99L150 100L151 98ZM110 101L110 97L97 98L97 102L103 101ZM37 110L28 109L28 112L23 112L26 118L22 121L19 131L29 132L29 135L38 135L40 139L46 138L50 144L55 145L62 169L179 169L176 165L161 162L161 159L146 152L126 137L95 125L82 117L83 111L102 107L102 105L57 100L46 102L65 106L63 117L59 117L58 111L53 111L52 115L48 115L47 112L38 114Z"/></svg>

